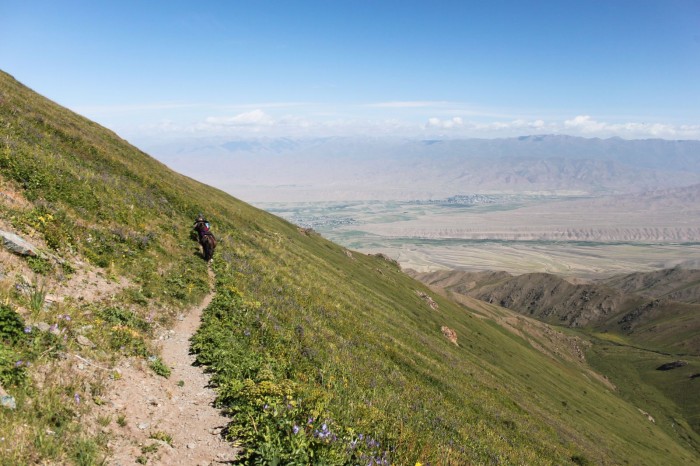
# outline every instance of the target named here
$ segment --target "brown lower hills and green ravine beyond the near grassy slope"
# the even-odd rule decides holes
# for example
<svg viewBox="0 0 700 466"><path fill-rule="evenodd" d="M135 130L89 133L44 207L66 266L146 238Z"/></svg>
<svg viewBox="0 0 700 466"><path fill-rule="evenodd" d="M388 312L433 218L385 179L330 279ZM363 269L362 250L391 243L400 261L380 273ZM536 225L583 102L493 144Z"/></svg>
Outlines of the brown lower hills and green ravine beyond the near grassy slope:
<svg viewBox="0 0 700 466"><path fill-rule="evenodd" d="M543 322L574 327L576 331L570 333L593 342L587 351L592 366L613 381L623 398L640 409L644 406L645 411L654 412L657 420L664 419L665 426L673 426L669 432L677 432L683 442L697 445L700 433L697 415L700 396L694 377L700 370L697 305L595 284L574 285L549 274L518 277L457 271L412 274L455 300L473 297L495 301ZM692 286L695 274L695 271L681 274L660 271L618 277L613 282L620 283L620 288L636 283L635 290L661 290L657 292L663 296L677 289L689 289L688 283ZM677 280L665 278L669 276ZM682 280L683 277L687 280ZM533 344L542 346L538 342ZM663 364L677 360L686 365L658 370Z"/></svg>

